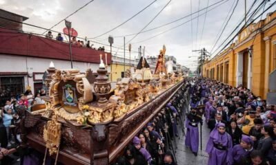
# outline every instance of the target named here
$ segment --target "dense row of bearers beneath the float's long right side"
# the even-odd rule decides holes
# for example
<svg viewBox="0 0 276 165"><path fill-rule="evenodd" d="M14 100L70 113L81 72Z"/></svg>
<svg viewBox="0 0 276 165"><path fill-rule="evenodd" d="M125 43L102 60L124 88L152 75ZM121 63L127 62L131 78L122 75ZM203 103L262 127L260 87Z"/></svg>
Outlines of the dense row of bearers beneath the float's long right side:
<svg viewBox="0 0 276 165"><path fill-rule="evenodd" d="M124 155L115 165L177 164L176 141L181 131L184 133L186 98L183 96L186 92L187 86L184 85L126 146Z"/></svg>

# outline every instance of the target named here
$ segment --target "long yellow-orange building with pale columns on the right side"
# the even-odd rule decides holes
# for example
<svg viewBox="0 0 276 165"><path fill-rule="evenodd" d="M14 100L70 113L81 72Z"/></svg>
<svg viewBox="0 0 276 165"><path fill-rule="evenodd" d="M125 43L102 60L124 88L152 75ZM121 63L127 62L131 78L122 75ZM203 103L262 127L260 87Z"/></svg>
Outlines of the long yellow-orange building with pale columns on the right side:
<svg viewBox="0 0 276 165"><path fill-rule="evenodd" d="M203 65L203 76L232 86L242 84L266 98L276 69L276 12L244 29L235 43ZM276 83L276 82L275 82Z"/></svg>

